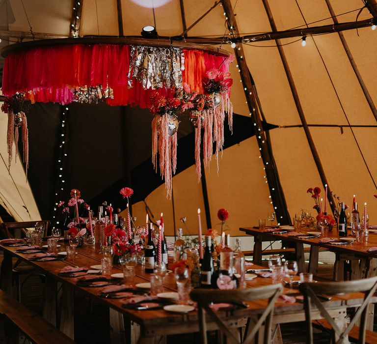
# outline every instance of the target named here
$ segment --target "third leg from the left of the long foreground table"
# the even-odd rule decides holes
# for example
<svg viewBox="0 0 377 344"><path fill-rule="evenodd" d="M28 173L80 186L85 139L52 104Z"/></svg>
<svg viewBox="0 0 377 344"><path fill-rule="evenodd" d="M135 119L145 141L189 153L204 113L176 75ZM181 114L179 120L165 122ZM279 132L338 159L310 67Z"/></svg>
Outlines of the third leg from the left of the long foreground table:
<svg viewBox="0 0 377 344"><path fill-rule="evenodd" d="M59 329L69 338L74 339L74 297L75 291L72 286L66 283L62 285L60 303L60 324Z"/></svg>

